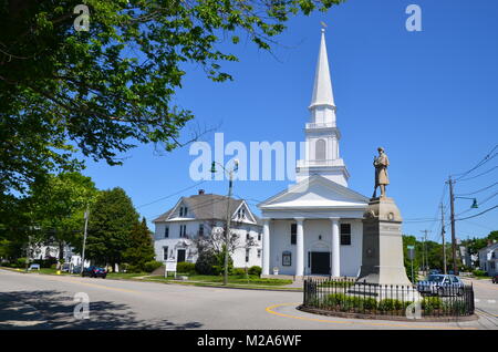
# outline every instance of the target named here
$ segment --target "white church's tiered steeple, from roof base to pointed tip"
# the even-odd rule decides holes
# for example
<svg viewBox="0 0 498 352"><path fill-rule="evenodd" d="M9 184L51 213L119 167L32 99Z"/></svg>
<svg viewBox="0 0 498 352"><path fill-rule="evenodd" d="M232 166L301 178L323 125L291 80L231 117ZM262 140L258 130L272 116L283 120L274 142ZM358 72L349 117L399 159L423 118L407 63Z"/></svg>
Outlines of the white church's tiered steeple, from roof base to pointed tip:
<svg viewBox="0 0 498 352"><path fill-rule="evenodd" d="M326 54L325 30L322 29L320 51L314 73L310 122L305 124L305 159L298 161L297 182L321 175L347 187L350 174L339 155L341 133L335 123L335 103Z"/></svg>

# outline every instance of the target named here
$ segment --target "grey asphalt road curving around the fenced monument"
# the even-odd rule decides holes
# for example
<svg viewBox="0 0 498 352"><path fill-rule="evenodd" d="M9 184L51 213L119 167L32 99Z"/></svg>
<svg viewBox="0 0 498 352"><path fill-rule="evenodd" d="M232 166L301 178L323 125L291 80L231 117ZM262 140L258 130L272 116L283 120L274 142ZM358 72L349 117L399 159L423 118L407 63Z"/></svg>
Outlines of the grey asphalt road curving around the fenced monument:
<svg viewBox="0 0 498 352"><path fill-rule="evenodd" d="M300 292L189 287L0 270L0 329L498 329L498 286L474 283L479 320L394 322L298 311ZM89 319L75 318L83 292ZM79 306L80 304L80 306ZM76 309L76 313L81 313ZM77 315L77 314L76 314Z"/></svg>

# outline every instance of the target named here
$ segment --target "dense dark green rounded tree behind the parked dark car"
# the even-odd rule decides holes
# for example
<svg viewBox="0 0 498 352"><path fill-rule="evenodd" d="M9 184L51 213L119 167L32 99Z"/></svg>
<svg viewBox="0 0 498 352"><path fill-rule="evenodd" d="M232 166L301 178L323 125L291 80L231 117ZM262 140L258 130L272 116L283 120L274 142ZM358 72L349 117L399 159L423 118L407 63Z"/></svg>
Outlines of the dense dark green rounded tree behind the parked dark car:
<svg viewBox="0 0 498 352"><path fill-rule="evenodd" d="M113 268L122 263L137 224L138 214L122 188L101 191L90 213L85 257Z"/></svg>

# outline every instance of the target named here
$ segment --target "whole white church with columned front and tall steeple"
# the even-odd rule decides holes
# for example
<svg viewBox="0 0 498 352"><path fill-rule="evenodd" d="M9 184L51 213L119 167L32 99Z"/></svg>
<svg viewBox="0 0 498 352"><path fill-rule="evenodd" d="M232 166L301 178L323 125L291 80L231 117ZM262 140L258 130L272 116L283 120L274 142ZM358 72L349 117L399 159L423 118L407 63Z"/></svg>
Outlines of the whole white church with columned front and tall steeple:
<svg viewBox="0 0 498 352"><path fill-rule="evenodd" d="M305 158L297 163L297 184L258 205L262 275L356 277L369 198L347 187L323 29L308 108L308 147Z"/></svg>

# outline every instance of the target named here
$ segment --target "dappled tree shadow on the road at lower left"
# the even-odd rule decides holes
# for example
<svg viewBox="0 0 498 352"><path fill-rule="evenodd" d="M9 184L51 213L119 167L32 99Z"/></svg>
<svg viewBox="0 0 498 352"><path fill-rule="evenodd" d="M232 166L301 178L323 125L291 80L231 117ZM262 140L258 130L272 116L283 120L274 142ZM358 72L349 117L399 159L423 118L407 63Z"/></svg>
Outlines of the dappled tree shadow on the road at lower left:
<svg viewBox="0 0 498 352"><path fill-rule="evenodd" d="M61 291L0 292L0 330L3 329L199 329L199 322L175 323L168 320L138 320L126 304L91 301L90 318L76 319L79 302ZM33 309L34 308L34 309Z"/></svg>

